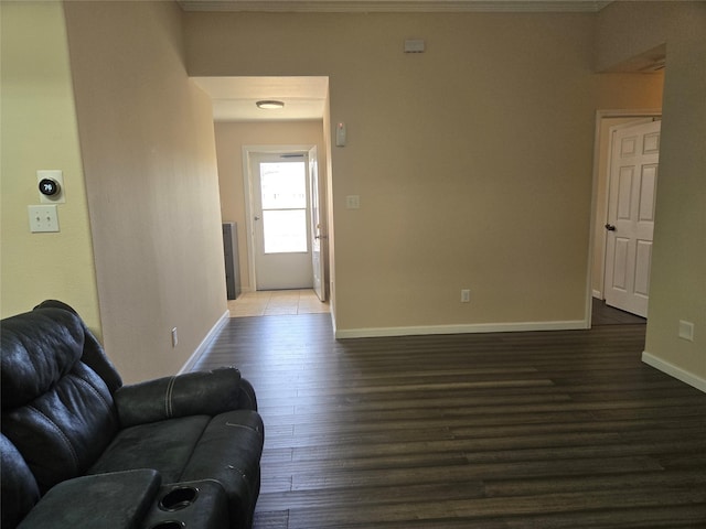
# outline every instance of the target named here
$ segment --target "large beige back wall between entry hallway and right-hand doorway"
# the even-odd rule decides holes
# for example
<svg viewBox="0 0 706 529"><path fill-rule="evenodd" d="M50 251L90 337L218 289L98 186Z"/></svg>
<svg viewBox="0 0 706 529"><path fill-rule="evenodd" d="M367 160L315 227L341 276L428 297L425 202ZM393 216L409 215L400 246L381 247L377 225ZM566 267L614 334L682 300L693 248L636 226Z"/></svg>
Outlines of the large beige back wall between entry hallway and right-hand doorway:
<svg viewBox="0 0 706 529"><path fill-rule="evenodd" d="M640 86L593 75L593 15L185 20L192 75L330 76L340 335L585 323L595 111Z"/></svg>

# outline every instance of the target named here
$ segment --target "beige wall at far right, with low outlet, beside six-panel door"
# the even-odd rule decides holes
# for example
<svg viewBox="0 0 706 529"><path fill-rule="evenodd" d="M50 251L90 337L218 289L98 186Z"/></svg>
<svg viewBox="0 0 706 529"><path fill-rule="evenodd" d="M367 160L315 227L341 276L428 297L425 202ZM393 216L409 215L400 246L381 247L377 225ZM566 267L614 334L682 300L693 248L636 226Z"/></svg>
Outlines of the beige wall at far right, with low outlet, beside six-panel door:
<svg viewBox="0 0 706 529"><path fill-rule="evenodd" d="M706 390L706 2L617 2L599 23L605 67L666 42L644 359ZM693 342L677 336L680 320L694 323Z"/></svg>

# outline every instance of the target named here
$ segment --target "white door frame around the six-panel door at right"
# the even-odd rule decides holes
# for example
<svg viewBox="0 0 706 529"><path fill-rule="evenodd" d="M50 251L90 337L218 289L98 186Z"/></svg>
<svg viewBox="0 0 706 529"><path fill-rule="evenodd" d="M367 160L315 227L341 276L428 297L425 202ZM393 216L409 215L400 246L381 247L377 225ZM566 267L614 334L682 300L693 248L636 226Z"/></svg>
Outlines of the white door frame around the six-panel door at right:
<svg viewBox="0 0 706 529"><path fill-rule="evenodd" d="M592 271L593 271L593 247L596 244L596 217L598 212L598 204L602 204L605 206L608 205L608 191L603 193L601 196L598 196L598 182L600 174L601 164L610 164L610 156L608 159L602 159L600 155L600 145L601 145L601 121L607 118L635 118L635 120L640 118L661 118L662 109L661 108L648 108L648 109L617 109L617 110L597 110L596 111L596 125L595 125L595 133L593 133L593 181L591 186L591 218L589 225L589 237L588 237L588 267L587 267L587 278L586 278L586 307L585 307L585 320L586 320L586 328L590 328L591 326L591 309L592 309L592 299L593 299L593 287L592 287ZM603 231L603 246L606 244L606 236ZM602 261L602 276L606 276L606 260Z"/></svg>

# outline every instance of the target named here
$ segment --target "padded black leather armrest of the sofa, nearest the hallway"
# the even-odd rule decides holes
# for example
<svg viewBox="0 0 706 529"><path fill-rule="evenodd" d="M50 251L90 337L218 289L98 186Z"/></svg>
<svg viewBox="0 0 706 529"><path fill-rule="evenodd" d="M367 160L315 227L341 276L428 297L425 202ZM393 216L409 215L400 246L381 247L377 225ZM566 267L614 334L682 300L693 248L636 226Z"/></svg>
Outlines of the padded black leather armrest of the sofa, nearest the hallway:
<svg viewBox="0 0 706 529"><path fill-rule="evenodd" d="M240 371L233 367L195 371L124 386L115 395L122 428L186 415L237 410Z"/></svg>

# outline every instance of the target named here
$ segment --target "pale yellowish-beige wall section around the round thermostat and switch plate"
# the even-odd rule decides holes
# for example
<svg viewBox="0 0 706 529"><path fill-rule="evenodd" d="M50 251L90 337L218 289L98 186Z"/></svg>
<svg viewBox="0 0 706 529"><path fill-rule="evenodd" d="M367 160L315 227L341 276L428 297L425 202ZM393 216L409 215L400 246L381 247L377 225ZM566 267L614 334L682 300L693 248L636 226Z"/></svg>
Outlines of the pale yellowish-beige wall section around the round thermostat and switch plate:
<svg viewBox="0 0 706 529"><path fill-rule="evenodd" d="M100 335L88 207L64 13L58 2L1 2L1 315L45 299L74 306ZM64 172L61 231L31 234L36 170Z"/></svg>

